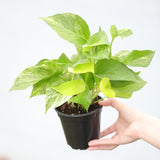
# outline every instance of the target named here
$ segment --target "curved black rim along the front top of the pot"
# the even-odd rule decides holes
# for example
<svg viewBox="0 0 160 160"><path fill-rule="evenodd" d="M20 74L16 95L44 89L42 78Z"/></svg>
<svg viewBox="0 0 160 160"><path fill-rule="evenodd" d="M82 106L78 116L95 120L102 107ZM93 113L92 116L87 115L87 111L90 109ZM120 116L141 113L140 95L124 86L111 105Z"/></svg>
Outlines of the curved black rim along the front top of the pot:
<svg viewBox="0 0 160 160"><path fill-rule="evenodd" d="M86 117L86 116L89 116L89 115L92 115L93 113L97 112L98 110L101 110L103 106L99 106L98 108L96 108L95 110L91 111L91 112L87 112L87 113L83 113L83 114L66 114L66 113L62 113L60 111L58 111L56 108L56 112L61 115L61 116L64 116L64 117Z"/></svg>

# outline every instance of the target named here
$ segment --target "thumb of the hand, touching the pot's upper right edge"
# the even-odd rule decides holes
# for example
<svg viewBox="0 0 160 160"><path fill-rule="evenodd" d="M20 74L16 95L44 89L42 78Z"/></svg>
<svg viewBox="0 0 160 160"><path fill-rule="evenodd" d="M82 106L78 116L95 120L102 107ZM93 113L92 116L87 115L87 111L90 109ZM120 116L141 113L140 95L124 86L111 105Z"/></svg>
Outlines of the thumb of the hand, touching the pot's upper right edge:
<svg viewBox="0 0 160 160"><path fill-rule="evenodd" d="M124 108L125 105L120 103L119 101L115 100L114 98L109 98L105 101L98 102L101 106L112 106L113 108L119 110L120 108Z"/></svg>

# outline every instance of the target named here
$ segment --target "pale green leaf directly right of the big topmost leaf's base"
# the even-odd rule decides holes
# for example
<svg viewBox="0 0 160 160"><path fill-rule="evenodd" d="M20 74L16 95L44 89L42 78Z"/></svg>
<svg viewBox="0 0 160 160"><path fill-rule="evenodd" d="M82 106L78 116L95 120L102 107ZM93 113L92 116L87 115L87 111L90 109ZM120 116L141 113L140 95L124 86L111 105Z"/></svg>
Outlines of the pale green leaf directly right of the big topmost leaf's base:
<svg viewBox="0 0 160 160"><path fill-rule="evenodd" d="M109 45L106 32L100 31L92 35L87 45L88 46Z"/></svg>

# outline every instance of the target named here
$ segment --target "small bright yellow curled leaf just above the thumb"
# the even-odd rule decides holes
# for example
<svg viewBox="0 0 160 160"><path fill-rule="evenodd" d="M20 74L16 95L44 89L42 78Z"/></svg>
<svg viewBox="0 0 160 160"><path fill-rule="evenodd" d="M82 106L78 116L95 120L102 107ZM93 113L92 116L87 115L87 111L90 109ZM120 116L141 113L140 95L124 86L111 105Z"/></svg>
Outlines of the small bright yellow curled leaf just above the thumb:
<svg viewBox="0 0 160 160"><path fill-rule="evenodd" d="M106 97L115 97L115 92L111 88L111 83L109 81L109 78L103 78L99 84L99 89Z"/></svg>

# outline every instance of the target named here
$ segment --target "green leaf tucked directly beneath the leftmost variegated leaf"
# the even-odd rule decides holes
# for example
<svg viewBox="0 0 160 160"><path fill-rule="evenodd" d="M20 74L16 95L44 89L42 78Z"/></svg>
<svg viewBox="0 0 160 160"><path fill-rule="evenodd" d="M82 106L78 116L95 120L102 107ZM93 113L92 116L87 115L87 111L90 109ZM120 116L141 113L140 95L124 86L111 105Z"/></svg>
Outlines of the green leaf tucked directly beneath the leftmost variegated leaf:
<svg viewBox="0 0 160 160"><path fill-rule="evenodd" d="M51 77L43 79L33 85L31 97L46 94L47 87L54 87L64 83L66 80L62 76L61 72L56 72Z"/></svg>

